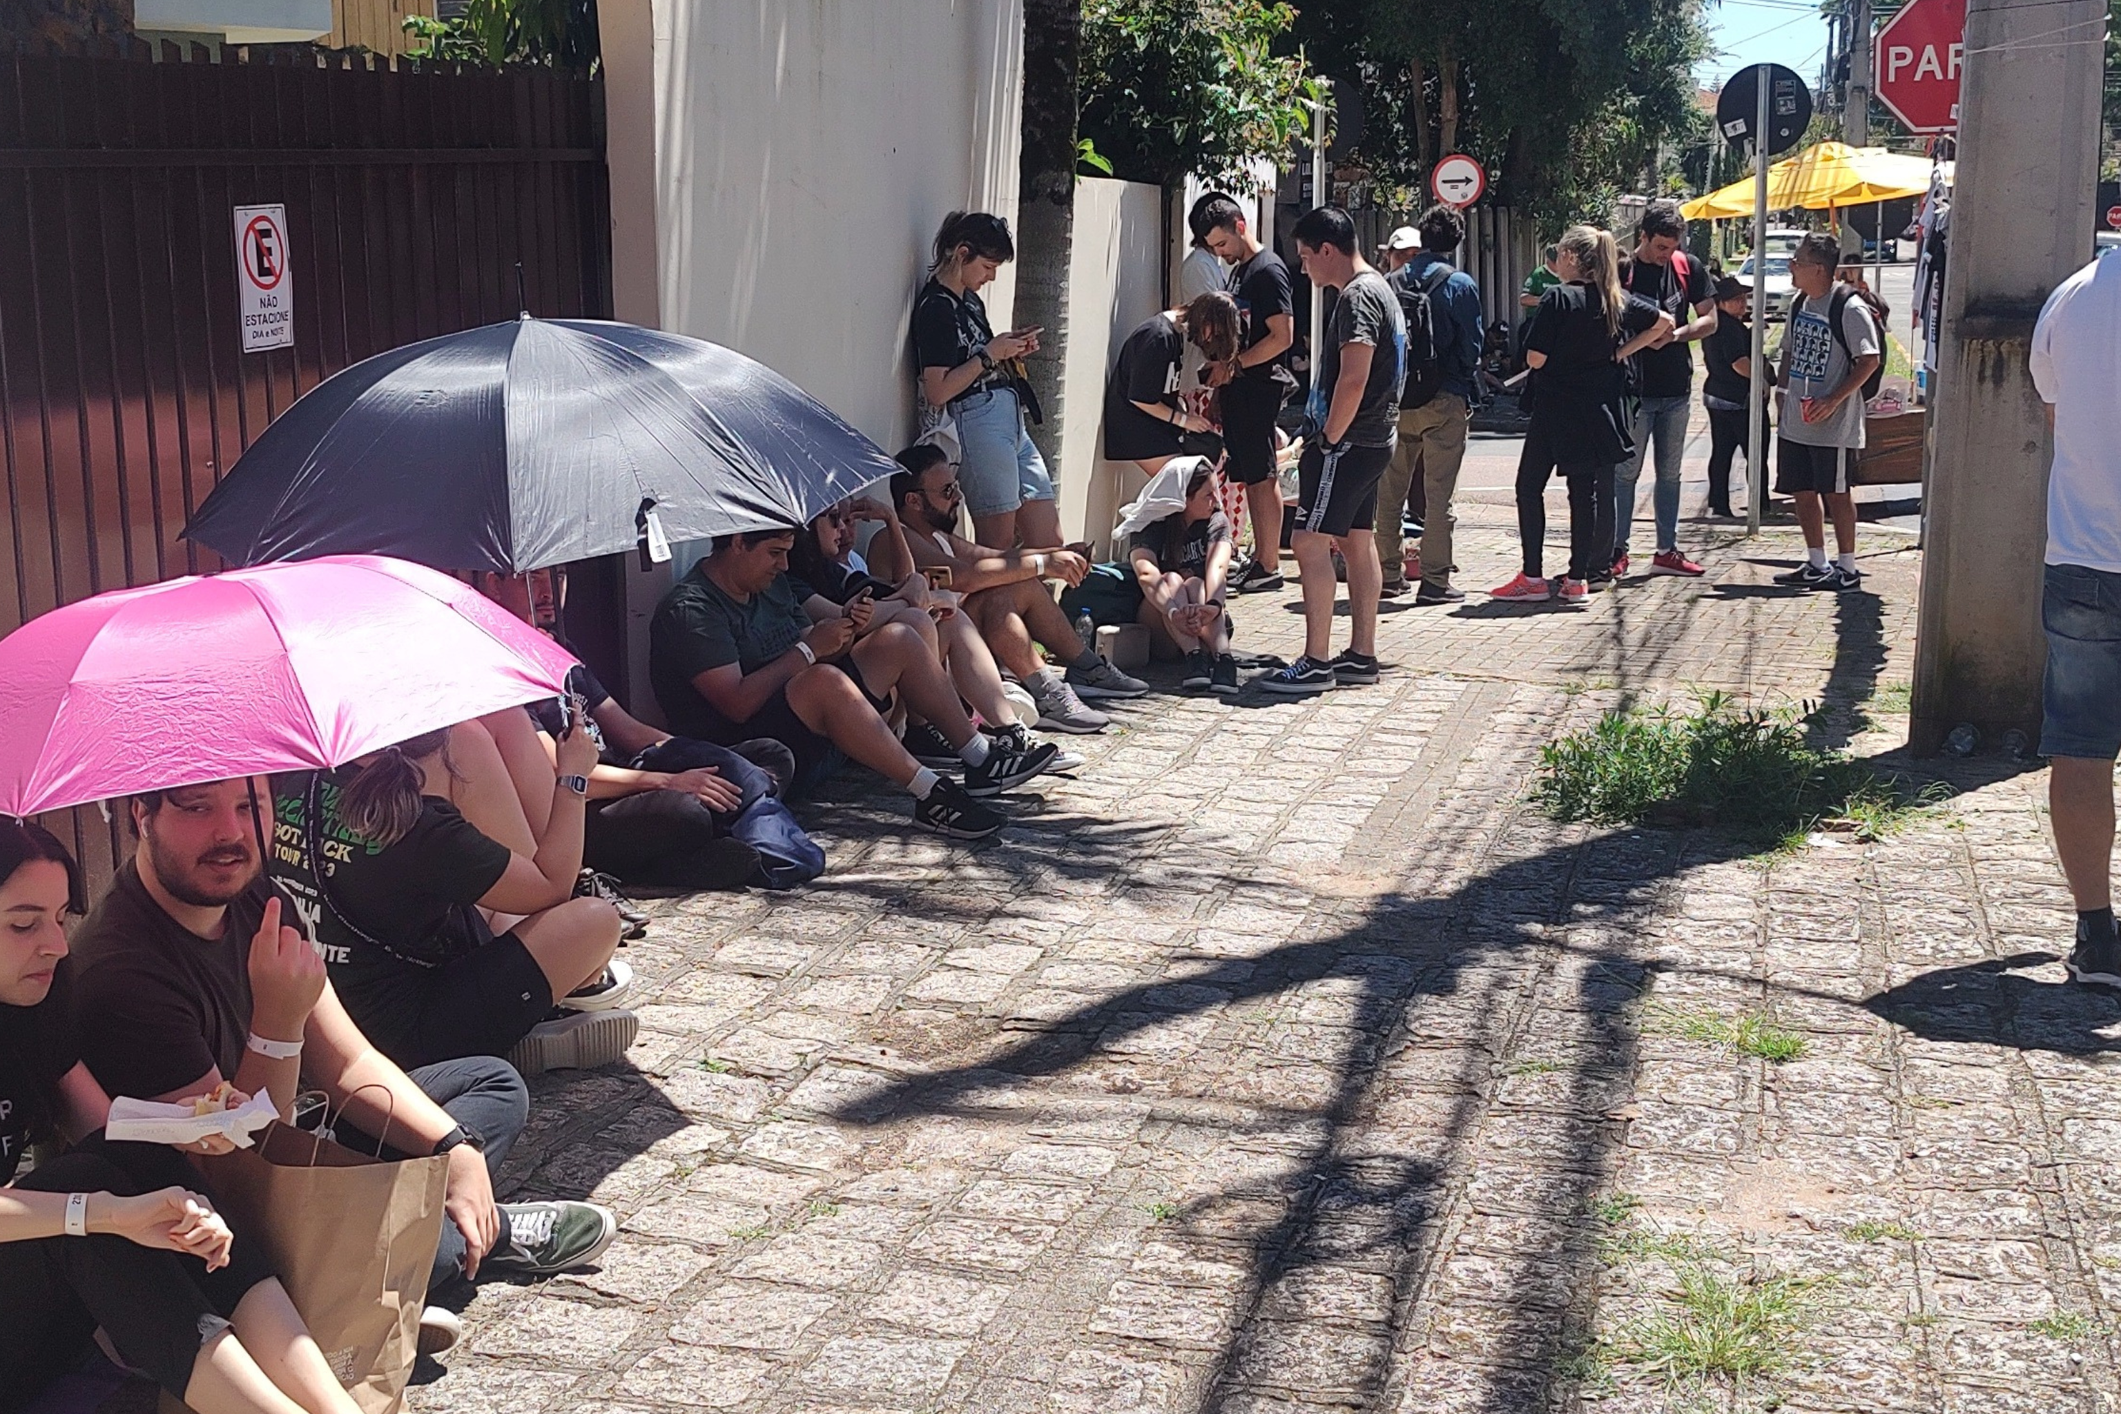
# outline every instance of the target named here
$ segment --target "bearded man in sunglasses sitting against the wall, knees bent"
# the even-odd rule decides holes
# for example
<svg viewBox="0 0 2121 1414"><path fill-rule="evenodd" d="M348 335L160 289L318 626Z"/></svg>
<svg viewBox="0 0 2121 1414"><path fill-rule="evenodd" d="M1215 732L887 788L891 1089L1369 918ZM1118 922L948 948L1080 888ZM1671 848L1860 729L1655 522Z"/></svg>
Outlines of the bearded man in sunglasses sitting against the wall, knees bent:
<svg viewBox="0 0 2121 1414"><path fill-rule="evenodd" d="M988 549L957 534L963 492L940 447L927 443L897 456L906 471L891 477L891 502L906 526L914 568L946 568L950 589L965 596L965 613L980 628L995 659L1039 706L1046 731L1103 731L1111 721L1084 706L1084 697L1141 697L1150 685L1130 678L1075 638L1048 579L1080 585L1090 562L1071 549ZM895 572L899 566L889 566ZM1039 644L1067 664L1050 668ZM1080 693L1080 695L1077 695Z"/></svg>

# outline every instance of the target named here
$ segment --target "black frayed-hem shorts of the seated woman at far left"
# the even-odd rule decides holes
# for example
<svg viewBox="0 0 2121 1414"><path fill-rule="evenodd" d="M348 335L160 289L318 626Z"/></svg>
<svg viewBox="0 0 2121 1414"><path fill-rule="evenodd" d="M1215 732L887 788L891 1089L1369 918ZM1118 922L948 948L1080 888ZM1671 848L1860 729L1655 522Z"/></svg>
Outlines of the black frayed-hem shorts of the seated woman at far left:
<svg viewBox="0 0 2121 1414"><path fill-rule="evenodd" d="M148 1194L172 1183L206 1187L176 1149L102 1147L102 1136L91 1136L83 1149L36 1168L19 1187ZM235 1304L267 1276L263 1255L242 1238L218 1272L208 1272L197 1257L112 1234L0 1242L0 1408L19 1408L76 1369L93 1350L95 1327L127 1365L182 1399L199 1346L227 1329Z"/></svg>

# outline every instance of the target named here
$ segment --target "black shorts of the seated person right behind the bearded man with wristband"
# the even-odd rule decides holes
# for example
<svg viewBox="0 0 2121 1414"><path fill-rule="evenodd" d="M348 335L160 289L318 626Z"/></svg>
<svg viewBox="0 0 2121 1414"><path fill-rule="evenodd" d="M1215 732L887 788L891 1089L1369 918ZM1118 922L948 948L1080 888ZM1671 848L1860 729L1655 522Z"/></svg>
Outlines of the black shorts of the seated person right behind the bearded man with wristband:
<svg viewBox="0 0 2121 1414"><path fill-rule="evenodd" d="M464 1056L507 1056L551 1015L551 984L513 933L441 967L403 962L386 986L346 994L361 1032L401 1071Z"/></svg>

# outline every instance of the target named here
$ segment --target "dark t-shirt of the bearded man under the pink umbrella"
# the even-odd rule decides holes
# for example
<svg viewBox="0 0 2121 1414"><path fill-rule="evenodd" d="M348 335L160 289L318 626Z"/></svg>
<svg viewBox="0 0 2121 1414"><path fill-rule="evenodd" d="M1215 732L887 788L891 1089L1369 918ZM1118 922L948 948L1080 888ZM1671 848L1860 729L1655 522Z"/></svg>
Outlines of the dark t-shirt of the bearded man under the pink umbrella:
<svg viewBox="0 0 2121 1414"><path fill-rule="evenodd" d="M74 1032L104 1094L151 1100L214 1068L235 1077L250 1035L250 939L267 897L263 882L250 886L229 903L221 937L199 937L161 912L138 863L119 869L70 939Z"/></svg>

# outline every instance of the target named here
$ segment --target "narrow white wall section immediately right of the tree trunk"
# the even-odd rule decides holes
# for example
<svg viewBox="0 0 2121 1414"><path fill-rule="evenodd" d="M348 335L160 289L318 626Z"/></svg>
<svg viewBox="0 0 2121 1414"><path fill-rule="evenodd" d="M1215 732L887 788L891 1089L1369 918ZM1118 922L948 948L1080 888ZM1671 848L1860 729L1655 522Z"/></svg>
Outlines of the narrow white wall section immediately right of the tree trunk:
<svg viewBox="0 0 2121 1414"><path fill-rule="evenodd" d="M1162 191L1143 182L1075 182L1060 532L1101 551L1109 549L1118 509L1141 490L1133 462L1105 460L1105 375L1135 324L1164 303L1160 204Z"/></svg>

